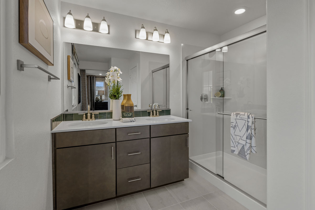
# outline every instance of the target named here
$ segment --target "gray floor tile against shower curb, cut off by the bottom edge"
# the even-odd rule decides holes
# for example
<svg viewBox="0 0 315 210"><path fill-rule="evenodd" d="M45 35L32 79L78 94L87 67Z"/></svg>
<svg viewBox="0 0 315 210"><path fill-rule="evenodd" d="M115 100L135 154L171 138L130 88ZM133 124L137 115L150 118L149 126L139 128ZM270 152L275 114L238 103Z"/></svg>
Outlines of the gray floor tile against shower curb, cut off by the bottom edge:
<svg viewBox="0 0 315 210"><path fill-rule="evenodd" d="M248 210L221 190L203 196L218 210Z"/></svg>

